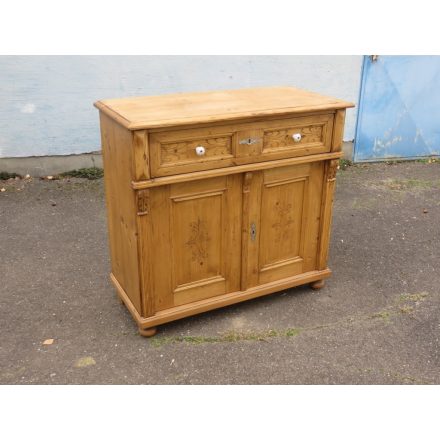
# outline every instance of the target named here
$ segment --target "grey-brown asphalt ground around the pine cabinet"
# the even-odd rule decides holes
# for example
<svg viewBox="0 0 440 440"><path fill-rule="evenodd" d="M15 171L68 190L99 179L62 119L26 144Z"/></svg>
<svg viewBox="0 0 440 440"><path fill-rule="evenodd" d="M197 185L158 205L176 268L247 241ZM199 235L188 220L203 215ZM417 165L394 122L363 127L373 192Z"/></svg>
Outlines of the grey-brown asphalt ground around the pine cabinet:
<svg viewBox="0 0 440 440"><path fill-rule="evenodd" d="M0 187L0 383L440 382L439 164L339 171L324 289L187 318L151 339L108 279L102 180Z"/></svg>

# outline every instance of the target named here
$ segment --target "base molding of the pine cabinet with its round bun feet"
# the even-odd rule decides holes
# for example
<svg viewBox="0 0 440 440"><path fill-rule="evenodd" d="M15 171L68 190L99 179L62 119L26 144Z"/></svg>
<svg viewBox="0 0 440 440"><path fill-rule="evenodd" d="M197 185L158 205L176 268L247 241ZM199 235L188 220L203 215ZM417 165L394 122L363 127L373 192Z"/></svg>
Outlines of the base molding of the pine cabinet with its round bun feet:
<svg viewBox="0 0 440 440"><path fill-rule="evenodd" d="M312 288L315 288L313 286L318 283L322 283L323 286L323 280L325 278L328 278L331 273L331 270L328 268L324 270L314 270L311 272L296 275L294 277L284 278L282 280L277 280L260 286L251 287L250 289L247 289L245 291L227 293L213 298L193 302L191 304L173 307L157 312L153 316L149 316L148 318L144 318L138 313L130 298L125 293L124 289L112 273L110 273L110 279L116 287L116 291L120 300L126 305L127 309L135 319L139 327L139 333L142 336L149 337L156 334L156 326L160 324L165 324L170 321L175 321L177 319L197 315L198 313L203 313L209 310L214 310L220 307L225 307L231 304L247 301L252 298L258 298L259 296L269 295L271 293L279 292L281 290L289 289L291 287L300 286L302 284L311 284Z"/></svg>

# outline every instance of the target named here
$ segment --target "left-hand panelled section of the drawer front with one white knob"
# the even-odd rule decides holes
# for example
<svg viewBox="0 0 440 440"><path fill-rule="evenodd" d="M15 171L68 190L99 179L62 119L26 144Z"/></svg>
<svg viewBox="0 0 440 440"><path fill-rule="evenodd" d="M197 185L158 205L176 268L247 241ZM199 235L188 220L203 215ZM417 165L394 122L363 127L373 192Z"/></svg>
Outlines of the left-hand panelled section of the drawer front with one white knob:
<svg viewBox="0 0 440 440"><path fill-rule="evenodd" d="M232 164L234 135L209 129L153 133L150 149L154 177L209 170Z"/></svg>

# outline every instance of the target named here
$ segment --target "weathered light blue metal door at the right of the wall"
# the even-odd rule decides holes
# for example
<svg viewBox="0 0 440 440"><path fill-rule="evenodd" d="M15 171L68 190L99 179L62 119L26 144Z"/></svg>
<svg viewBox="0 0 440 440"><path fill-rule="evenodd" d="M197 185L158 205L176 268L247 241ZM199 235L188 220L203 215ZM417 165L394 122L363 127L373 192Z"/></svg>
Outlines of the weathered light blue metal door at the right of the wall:
<svg viewBox="0 0 440 440"><path fill-rule="evenodd" d="M440 56L366 56L355 162L440 155Z"/></svg>

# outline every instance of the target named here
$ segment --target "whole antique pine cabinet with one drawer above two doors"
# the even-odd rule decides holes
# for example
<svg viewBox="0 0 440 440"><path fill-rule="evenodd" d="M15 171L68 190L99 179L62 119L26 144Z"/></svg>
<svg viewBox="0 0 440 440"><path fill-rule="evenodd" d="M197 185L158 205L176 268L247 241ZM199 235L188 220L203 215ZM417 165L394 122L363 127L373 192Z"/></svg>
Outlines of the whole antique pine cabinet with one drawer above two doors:
<svg viewBox="0 0 440 440"><path fill-rule="evenodd" d="M323 286L345 109L290 87L98 101L112 272L144 336Z"/></svg>

